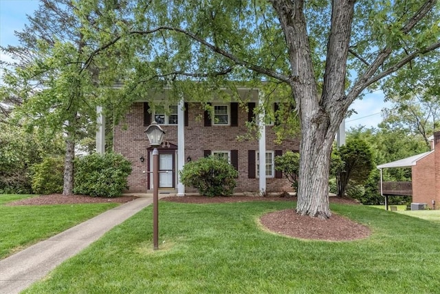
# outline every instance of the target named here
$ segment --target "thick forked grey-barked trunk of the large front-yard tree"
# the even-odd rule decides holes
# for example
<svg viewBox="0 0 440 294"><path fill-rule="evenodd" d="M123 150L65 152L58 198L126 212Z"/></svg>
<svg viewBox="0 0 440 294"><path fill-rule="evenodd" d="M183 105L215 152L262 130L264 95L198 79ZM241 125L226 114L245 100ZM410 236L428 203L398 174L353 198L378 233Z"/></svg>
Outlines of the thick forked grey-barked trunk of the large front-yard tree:
<svg viewBox="0 0 440 294"><path fill-rule="evenodd" d="M285 33L290 85L300 116L301 145L296 212L329 218L329 167L336 130L349 106L344 95L353 0L332 1L331 28L322 94L311 61L305 1L270 0Z"/></svg>

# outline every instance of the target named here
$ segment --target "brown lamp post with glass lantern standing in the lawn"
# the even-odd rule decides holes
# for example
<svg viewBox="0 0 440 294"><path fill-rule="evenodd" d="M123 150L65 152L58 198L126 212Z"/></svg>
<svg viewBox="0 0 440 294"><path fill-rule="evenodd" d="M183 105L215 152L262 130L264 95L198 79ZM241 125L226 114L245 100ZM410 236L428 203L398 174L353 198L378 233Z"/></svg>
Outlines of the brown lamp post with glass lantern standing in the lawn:
<svg viewBox="0 0 440 294"><path fill-rule="evenodd" d="M159 249L159 151L157 146L162 143L164 130L155 121L144 131L153 149L153 250Z"/></svg>

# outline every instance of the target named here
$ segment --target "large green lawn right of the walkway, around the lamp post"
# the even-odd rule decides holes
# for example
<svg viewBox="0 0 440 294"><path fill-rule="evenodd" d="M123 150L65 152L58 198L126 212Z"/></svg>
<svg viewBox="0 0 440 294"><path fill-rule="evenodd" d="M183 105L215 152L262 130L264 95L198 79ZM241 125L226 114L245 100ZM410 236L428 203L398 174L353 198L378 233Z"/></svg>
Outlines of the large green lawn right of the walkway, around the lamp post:
<svg viewBox="0 0 440 294"><path fill-rule="evenodd" d="M109 231L25 293L438 293L440 224L332 204L368 225L365 240L323 242L263 231L292 202L159 202Z"/></svg>

